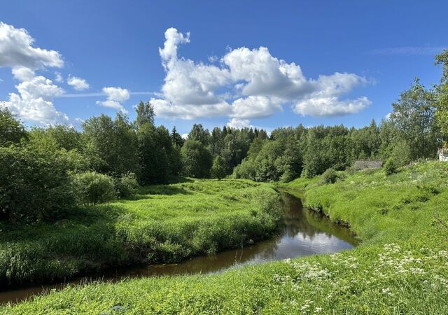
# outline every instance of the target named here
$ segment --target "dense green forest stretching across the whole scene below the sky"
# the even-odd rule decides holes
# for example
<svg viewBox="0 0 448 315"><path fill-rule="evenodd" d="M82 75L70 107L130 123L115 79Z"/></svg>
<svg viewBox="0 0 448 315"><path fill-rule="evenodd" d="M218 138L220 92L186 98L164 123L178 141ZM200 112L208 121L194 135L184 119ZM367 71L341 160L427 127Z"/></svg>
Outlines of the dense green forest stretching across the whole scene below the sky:
<svg viewBox="0 0 448 315"><path fill-rule="evenodd" d="M76 204L127 197L138 185L177 176L291 181L358 159L383 160L392 169L435 158L448 134L448 50L437 55L440 84L414 81L380 123L265 130L193 125L188 139L155 125L149 102L137 118L92 117L78 131L68 125L27 129L0 109L0 218L45 220ZM27 196L24 198L23 196Z"/></svg>

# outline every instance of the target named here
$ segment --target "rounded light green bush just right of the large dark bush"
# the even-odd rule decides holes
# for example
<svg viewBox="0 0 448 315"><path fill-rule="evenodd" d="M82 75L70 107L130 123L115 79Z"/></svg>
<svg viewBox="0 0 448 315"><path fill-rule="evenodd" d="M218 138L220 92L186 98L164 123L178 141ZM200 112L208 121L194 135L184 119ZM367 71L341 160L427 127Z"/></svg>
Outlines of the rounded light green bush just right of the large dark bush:
<svg viewBox="0 0 448 315"><path fill-rule="evenodd" d="M97 172L85 172L73 175L73 188L78 204L97 204L116 197L111 176Z"/></svg>

